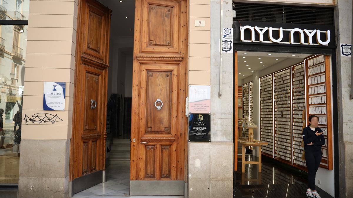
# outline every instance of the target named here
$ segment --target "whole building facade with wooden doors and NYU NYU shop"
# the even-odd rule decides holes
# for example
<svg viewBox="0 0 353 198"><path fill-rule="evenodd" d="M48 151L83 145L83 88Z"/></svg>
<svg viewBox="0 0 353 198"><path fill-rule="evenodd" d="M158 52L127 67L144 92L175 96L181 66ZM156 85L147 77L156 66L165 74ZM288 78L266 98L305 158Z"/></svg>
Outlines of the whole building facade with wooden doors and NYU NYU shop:
<svg viewBox="0 0 353 198"><path fill-rule="evenodd" d="M264 17L264 7L273 18ZM307 18L297 15L310 11ZM280 131L279 100L273 84L273 139L266 140L262 82L270 76L275 83L286 69L293 80L294 68L309 72L314 58L326 63L317 73L325 74L327 94L309 93L314 83L305 86L304 123L318 114L309 112L319 106L310 106L309 98L331 100L328 113L319 113L329 123L321 126L328 144L315 182L332 197L353 194L351 1L0 0L0 17L0 185L18 185L18 197L72 197L108 182L108 168L117 161L130 167L130 195L236 196L238 140L249 136L238 118L247 117L258 126L254 139L272 145L263 146L262 154L254 149L254 156L305 171L293 146L295 83L288 88L289 157L281 159L273 132ZM268 27L274 30L265 33ZM321 33L310 36L314 29ZM220 52L229 43L231 51ZM269 56L271 63L265 62ZM256 57L263 65L252 70ZM318 75L306 72L303 85ZM61 105L50 106L48 95L58 91L63 95L53 102ZM278 110L281 119L286 111ZM190 138L196 117L210 124L201 141ZM127 159L112 160L117 137L129 139Z"/></svg>

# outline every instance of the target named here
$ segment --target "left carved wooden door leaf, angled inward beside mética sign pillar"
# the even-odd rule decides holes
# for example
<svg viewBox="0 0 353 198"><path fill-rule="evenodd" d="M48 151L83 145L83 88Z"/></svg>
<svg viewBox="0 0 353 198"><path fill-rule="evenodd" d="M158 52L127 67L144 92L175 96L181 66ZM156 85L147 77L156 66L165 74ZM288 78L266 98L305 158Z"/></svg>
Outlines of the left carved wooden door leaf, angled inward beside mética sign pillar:
<svg viewBox="0 0 353 198"><path fill-rule="evenodd" d="M80 0L70 149L72 193L102 182L105 166L110 10Z"/></svg>

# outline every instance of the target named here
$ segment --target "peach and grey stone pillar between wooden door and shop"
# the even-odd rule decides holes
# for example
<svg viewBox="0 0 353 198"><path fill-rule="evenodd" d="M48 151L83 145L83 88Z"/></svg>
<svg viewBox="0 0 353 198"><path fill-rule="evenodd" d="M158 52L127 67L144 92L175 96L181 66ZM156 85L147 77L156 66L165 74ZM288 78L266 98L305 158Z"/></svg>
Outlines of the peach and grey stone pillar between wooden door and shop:
<svg viewBox="0 0 353 198"><path fill-rule="evenodd" d="M219 98L220 2L190 0L189 85L211 86L211 142L188 144L187 196L192 198L233 194L233 54L223 54ZM204 29L195 28L195 20L205 20ZM231 0L223 1L223 27L232 27Z"/></svg>

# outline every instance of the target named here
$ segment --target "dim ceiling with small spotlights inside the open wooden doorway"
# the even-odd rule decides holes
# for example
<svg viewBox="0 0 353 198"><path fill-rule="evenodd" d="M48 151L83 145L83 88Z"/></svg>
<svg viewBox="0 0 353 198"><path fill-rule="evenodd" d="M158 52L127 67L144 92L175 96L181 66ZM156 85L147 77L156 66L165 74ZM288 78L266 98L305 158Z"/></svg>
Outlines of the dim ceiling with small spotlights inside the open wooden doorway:
<svg viewBox="0 0 353 198"><path fill-rule="evenodd" d="M98 0L112 10L110 36L133 37L135 0ZM127 17L127 18L125 18ZM131 31L130 31L131 29Z"/></svg>

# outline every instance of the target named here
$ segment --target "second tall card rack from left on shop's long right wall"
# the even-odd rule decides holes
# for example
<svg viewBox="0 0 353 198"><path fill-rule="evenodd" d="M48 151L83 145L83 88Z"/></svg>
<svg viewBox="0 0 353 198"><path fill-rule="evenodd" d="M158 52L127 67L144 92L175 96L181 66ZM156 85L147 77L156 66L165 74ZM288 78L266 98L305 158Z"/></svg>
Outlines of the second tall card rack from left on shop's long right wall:
<svg viewBox="0 0 353 198"><path fill-rule="evenodd" d="M291 69L274 73L275 158L292 161L291 155ZM289 101L289 102L288 102Z"/></svg>

